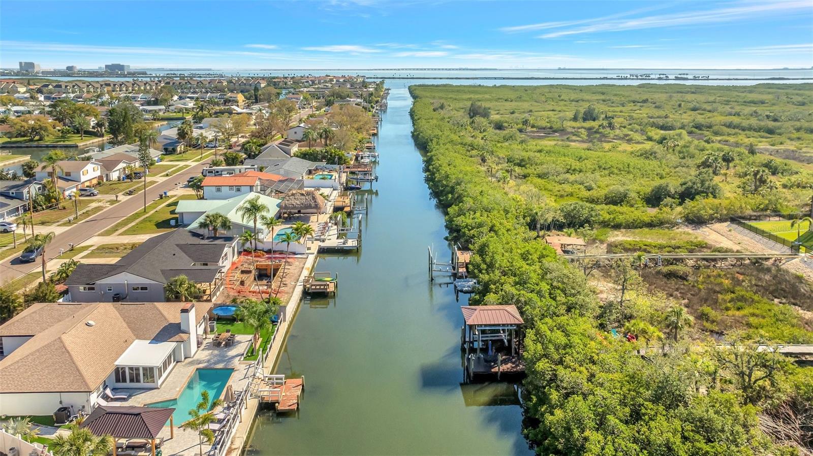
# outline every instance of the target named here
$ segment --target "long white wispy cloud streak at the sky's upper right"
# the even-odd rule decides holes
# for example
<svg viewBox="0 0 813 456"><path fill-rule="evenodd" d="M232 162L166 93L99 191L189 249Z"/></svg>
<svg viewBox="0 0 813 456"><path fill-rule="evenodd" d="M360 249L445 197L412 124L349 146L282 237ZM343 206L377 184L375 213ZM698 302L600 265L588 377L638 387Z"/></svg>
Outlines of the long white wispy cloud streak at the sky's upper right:
<svg viewBox="0 0 813 456"><path fill-rule="evenodd" d="M809 0L770 1L770 2L740 2L737 7L717 8L712 10L688 11L667 15L650 15L633 19L607 20L609 16L596 20L572 21L589 24L572 27L576 24L558 24L545 28L560 28L554 32L545 33L539 38L558 38L568 35L585 33L622 32L624 30L640 30L645 28L667 28L680 26L694 26L698 24L717 24L736 20L763 18L770 14L786 14L789 11L809 11ZM553 23L549 23L553 24ZM529 28L533 29L533 28Z"/></svg>

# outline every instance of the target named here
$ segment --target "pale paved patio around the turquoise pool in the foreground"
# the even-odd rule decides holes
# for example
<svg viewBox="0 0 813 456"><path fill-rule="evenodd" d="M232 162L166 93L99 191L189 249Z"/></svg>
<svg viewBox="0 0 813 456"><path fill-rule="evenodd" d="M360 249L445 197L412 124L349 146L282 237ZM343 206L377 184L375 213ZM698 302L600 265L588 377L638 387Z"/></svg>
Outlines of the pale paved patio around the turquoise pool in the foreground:
<svg viewBox="0 0 813 456"><path fill-rule="evenodd" d="M193 358L187 358L182 363L176 363L159 389L135 389L133 396L124 402L115 402L121 406L145 406L152 402L167 401L178 397L186 386L189 378L196 369L229 368L234 373L228 380L234 391L242 391L250 377L250 368L253 363L241 363L240 358L251 343L251 336L237 334L234 345L229 347L215 347L211 337L204 340L203 346ZM124 390L127 391L127 390ZM245 412L244 412L245 416ZM175 436L170 438L169 427L164 427L159 437L163 437L163 454L173 456L183 454L192 456L198 454L198 433L179 428L181 423L175 423ZM203 445L204 453L209 445Z"/></svg>

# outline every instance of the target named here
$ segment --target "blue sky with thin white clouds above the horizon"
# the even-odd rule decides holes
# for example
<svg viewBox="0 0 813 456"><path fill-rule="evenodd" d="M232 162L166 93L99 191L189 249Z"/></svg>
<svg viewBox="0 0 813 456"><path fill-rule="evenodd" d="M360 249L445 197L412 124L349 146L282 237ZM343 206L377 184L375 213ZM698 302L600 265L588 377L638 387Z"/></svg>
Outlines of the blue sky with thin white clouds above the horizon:
<svg viewBox="0 0 813 456"><path fill-rule="evenodd" d="M2 0L0 66L813 66L813 0Z"/></svg>

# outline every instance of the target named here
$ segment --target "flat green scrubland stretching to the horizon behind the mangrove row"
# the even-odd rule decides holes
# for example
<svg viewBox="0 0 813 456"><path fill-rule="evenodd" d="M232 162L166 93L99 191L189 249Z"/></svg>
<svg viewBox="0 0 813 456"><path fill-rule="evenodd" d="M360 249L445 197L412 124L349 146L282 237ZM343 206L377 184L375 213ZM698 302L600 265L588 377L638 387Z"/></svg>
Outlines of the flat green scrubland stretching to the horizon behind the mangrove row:
<svg viewBox="0 0 813 456"><path fill-rule="evenodd" d="M467 156L563 226L701 223L810 202L813 85L415 86ZM649 208L649 209L648 209ZM656 209L656 210L655 210Z"/></svg>

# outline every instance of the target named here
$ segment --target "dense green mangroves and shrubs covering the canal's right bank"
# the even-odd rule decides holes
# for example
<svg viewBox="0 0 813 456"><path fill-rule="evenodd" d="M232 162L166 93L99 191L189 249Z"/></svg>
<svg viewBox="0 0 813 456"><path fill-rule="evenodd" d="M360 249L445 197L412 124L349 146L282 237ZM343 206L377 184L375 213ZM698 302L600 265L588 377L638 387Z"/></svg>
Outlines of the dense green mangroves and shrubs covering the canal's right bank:
<svg viewBox="0 0 813 456"><path fill-rule="evenodd" d="M750 88L726 92L697 86L659 87L411 88L415 98L413 137L426 152L428 185L446 209L450 239L472 250L469 271L481 287L471 302L515 304L525 320L525 436L537 454L574 456L809 451L813 430L794 417L813 413L813 374L772 351L756 348L758 343L809 340L810 332L790 306L770 306L767 297L754 293L749 284L729 283L730 278L729 282L715 276L698 278L685 268L663 268L664 280L702 280L693 287L714 284L724 291L718 293L720 302L714 306L687 311L669 297L633 286L641 277L624 262L619 263L615 275L629 292L626 296L622 293L620 299L600 302L582 272L557 259L554 250L534 232L551 224L561 228L663 225L680 216L688 218L687 214L714 219L735 209L780 208L771 201L782 205L793 202L796 189L780 189L780 185L748 196L737 193L741 182L748 181L738 177L737 170L762 166L758 160L767 158L713 141L689 139L689 132L662 144L658 144L662 136L674 133L653 132L651 140L641 133L641 137L624 138L624 145L606 147L530 139L517 128L525 122L527 131L550 119L567 128L576 123L571 120L575 117L579 125L606 122L606 115L599 112L611 111L622 100L617 100L617 105L599 108L596 104L590 109L589 104L597 102L597 93L602 91L607 99L617 91L628 98L627 103L633 98L649 98L654 104L671 99L672 91L672 98L683 98L686 104L684 120L680 120L680 111L671 109L673 106L655 109L650 101L634 104L643 104L648 113L657 111L655 119L628 115L640 127L663 129L667 126L654 125L656 119L675 122L677 115L677 122L693 121L688 113L701 111L690 109L696 98L706 99L703 106L721 106L720 99L761 98L751 95ZM770 87L753 90L763 89L780 93L783 106L797 106L793 102L810 98L809 88L808 93L793 86L787 93ZM706 94L694 96L694 91ZM571 100L576 94L579 98ZM723 95L727 98L721 98ZM570 111L570 115L559 120L557 111L551 110L563 99L573 105L563 106L562 112ZM524 114L532 105L536 110L531 110L533 114L526 122ZM580 106L578 116L574 115L576 105ZM787 115L807 113L802 106ZM513 119L518 124L513 124ZM805 131L802 120L789 120L782 128L793 130L789 136L807 135L810 132ZM749 119L745 124L768 121ZM621 113L613 122L633 124ZM680 126L683 124L668 128ZM761 134L754 132L754 138ZM636 141L641 145L628 147L629 142ZM713 169L696 174L698 162L708 150L721 156L726 150L736 154L728 182L715 176ZM776 163L793 169L788 178L804 173L796 165ZM769 179L778 182L785 177L777 173ZM647 211L643 202L653 193L667 196L658 210ZM716 196L702 196L706 194ZM709 211L713 214L708 215ZM580 234L586 236L584 230ZM650 230L650 234L657 237L650 244L669 242L685 250L705 248L680 236L670 240L658 230ZM638 250L646 247L643 244L639 241L633 247ZM700 322L692 318L693 313L702 315ZM774 314L772 319L766 319L766 313ZM729 333L724 348L685 338L689 327L715 318L717 324L723 319L745 320L741 328L746 332ZM637 342L615 339L611 328L636 334ZM639 350L645 351L646 357L638 356Z"/></svg>

